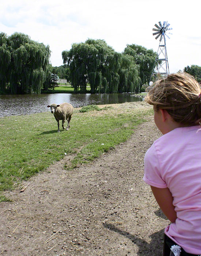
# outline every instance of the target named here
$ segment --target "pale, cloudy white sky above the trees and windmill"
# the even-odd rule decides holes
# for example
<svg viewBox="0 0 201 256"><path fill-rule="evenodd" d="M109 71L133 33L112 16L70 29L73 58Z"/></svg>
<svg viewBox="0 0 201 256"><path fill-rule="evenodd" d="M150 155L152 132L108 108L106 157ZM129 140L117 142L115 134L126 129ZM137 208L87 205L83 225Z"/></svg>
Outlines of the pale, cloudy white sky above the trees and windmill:
<svg viewBox="0 0 201 256"><path fill-rule="evenodd" d="M155 23L168 21L170 73L201 66L199 0L0 0L0 32L21 32L50 46L52 66L63 65L61 52L88 38L103 39L117 52L127 44L158 51Z"/></svg>

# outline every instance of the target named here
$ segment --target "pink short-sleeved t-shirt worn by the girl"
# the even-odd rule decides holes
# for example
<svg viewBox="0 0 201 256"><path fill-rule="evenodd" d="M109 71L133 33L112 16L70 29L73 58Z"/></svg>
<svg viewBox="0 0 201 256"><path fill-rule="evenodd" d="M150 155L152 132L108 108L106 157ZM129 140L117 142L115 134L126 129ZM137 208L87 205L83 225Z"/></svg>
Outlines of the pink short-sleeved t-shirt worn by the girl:
<svg viewBox="0 0 201 256"><path fill-rule="evenodd" d="M186 252L201 254L201 126L157 139L145 154L143 180L172 193L177 219L165 234Z"/></svg>

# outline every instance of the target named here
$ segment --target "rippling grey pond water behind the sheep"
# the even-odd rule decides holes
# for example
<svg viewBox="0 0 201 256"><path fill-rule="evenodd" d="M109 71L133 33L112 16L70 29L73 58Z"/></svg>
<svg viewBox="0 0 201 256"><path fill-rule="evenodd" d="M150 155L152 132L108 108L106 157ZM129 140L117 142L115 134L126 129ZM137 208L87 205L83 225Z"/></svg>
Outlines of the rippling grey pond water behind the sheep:
<svg viewBox="0 0 201 256"><path fill-rule="evenodd" d="M134 93L0 95L0 117L49 111L47 105L68 102L73 107L142 101Z"/></svg>

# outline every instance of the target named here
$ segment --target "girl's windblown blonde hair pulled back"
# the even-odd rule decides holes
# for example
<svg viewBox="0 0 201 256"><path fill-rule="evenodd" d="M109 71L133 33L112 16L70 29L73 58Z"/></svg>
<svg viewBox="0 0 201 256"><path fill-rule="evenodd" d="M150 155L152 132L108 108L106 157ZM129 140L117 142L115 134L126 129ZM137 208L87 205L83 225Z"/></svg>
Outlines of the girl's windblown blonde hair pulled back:
<svg viewBox="0 0 201 256"><path fill-rule="evenodd" d="M166 109L175 122L184 126L201 122L200 85L187 73L168 74L148 87L145 101L154 109Z"/></svg>

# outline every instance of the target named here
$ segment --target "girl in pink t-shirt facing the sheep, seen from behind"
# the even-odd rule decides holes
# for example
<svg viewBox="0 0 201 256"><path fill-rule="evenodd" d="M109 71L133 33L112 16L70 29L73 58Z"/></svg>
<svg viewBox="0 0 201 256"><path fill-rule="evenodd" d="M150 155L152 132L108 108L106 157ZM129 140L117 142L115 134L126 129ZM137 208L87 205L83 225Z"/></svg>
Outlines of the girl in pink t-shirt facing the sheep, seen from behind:
<svg viewBox="0 0 201 256"><path fill-rule="evenodd" d="M144 181L171 221L164 256L201 256L201 89L188 74L168 74L149 89L163 136L144 158Z"/></svg>

